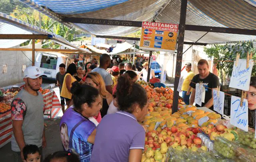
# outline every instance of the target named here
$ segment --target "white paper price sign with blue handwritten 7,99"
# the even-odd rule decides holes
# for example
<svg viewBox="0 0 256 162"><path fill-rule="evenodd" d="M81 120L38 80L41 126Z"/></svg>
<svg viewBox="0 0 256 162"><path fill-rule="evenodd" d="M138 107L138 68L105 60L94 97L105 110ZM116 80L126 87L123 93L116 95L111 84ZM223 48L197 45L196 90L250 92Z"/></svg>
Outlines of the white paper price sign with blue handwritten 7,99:
<svg viewBox="0 0 256 162"><path fill-rule="evenodd" d="M244 99L241 107L240 100L239 97L231 97L230 123L248 132L248 101Z"/></svg>

